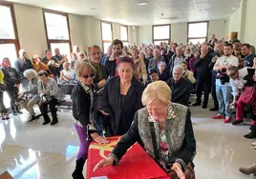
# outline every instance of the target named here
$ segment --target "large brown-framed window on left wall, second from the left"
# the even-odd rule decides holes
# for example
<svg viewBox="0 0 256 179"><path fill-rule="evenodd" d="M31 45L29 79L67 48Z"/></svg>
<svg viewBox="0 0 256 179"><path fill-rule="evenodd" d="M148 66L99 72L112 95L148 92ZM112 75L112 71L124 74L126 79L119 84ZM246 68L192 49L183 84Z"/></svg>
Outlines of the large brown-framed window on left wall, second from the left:
<svg viewBox="0 0 256 179"><path fill-rule="evenodd" d="M61 54L71 53L69 18L67 13L43 10L48 49L58 48Z"/></svg>

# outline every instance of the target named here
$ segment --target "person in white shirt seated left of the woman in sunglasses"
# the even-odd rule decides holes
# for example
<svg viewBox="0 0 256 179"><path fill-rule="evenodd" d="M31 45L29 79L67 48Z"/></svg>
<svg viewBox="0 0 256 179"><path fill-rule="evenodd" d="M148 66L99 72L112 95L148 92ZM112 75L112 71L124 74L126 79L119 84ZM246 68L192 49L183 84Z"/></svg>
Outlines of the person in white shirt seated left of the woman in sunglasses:
<svg viewBox="0 0 256 179"><path fill-rule="evenodd" d="M70 63L65 62L63 64L63 70L60 71L59 81L62 84L75 83L75 71L70 69Z"/></svg>

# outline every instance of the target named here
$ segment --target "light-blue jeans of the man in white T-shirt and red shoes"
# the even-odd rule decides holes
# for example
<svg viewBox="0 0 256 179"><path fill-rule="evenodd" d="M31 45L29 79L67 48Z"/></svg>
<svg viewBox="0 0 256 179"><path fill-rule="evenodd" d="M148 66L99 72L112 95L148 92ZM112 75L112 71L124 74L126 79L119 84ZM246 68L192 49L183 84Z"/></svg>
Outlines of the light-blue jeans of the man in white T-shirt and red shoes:
<svg viewBox="0 0 256 179"><path fill-rule="evenodd" d="M226 117L231 116L229 106L233 100L232 89L230 86L216 85L217 99L219 102L219 113Z"/></svg>

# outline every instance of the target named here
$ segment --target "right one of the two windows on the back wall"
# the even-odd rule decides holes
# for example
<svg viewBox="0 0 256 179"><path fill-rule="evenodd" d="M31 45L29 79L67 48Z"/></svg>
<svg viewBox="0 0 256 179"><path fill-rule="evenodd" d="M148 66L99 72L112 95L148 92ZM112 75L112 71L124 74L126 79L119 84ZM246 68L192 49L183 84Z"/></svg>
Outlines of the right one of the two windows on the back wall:
<svg viewBox="0 0 256 179"><path fill-rule="evenodd" d="M197 44L207 41L208 22L188 23L187 41Z"/></svg>

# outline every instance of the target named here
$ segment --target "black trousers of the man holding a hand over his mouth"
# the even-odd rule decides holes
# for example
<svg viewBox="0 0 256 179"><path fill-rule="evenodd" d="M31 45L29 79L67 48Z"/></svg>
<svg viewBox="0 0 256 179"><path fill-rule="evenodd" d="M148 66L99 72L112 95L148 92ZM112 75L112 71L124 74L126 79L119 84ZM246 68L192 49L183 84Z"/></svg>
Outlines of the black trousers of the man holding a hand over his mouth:
<svg viewBox="0 0 256 179"><path fill-rule="evenodd" d="M197 102L202 102L202 92L203 92L203 104L208 104L209 93L211 90L211 80L208 78L200 79L198 77L197 82Z"/></svg>

